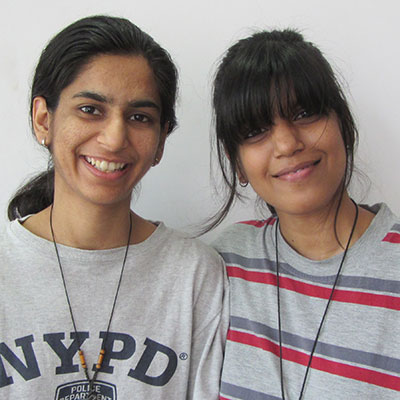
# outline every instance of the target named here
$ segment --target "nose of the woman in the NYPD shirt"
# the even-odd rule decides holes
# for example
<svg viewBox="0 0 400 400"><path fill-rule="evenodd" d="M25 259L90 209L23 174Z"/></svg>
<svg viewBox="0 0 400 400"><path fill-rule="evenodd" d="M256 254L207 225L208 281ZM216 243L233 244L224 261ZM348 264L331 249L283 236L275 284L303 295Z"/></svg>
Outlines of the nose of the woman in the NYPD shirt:
<svg viewBox="0 0 400 400"><path fill-rule="evenodd" d="M97 137L98 142L108 151L117 152L128 144L128 128L122 115L110 116Z"/></svg>

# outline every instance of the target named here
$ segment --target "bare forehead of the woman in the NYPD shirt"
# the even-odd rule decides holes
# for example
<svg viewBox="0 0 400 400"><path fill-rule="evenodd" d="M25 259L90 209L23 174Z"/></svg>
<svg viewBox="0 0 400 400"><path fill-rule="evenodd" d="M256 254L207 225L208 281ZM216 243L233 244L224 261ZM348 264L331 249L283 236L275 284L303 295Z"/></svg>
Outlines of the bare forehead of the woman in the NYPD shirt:
<svg viewBox="0 0 400 400"><path fill-rule="evenodd" d="M160 104L158 87L147 60L136 55L98 55L79 71L61 93L73 98L80 92L101 94L115 103L151 100Z"/></svg>

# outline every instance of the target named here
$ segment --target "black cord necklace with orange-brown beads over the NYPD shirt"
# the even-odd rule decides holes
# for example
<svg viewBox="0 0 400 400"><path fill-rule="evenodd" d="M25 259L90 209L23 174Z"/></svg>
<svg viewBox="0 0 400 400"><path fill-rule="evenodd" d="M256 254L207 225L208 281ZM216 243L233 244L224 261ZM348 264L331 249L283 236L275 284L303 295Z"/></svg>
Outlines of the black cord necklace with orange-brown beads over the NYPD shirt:
<svg viewBox="0 0 400 400"><path fill-rule="evenodd" d="M80 341L79 341L78 330L76 328L75 318L74 318L74 314L72 312L71 302L70 302L69 295L68 295L67 285L65 283L64 271L63 271L63 268L62 268L62 265L61 265L60 255L58 253L57 243L56 243L55 236L54 236L54 230L53 230L53 205L51 205L51 208L50 208L50 230L51 230L51 237L53 239L54 249L55 249L56 255L57 255L58 266L60 267L60 274L61 274L61 278L62 278L62 282L63 282L63 286L64 286L65 297L67 299L69 313L71 315L71 320L72 320L72 325L74 326L75 337L77 338L78 344L79 344ZM123 262L122 262L121 272L120 272L120 275L119 275L117 290L115 292L114 301L113 301L113 305L112 305L112 309L111 309L111 313L110 313L110 318L108 320L107 331L106 331L104 340L103 340L102 345L101 345L99 358L97 360L96 368L95 368L94 374L92 376L92 379L90 379L90 376L89 376L89 370L88 370L88 367L87 367L87 364L86 364L86 361L85 361L85 356L83 354L83 350L81 349L80 345L78 347L79 359L80 359L83 371L85 373L86 379L89 382L89 393L88 393L88 397L87 397L88 400L97 398L96 394L94 393L93 385L94 385L94 383L96 381L97 374L99 373L99 370L101 369L101 365L103 363L104 355L106 353L106 350L105 350L104 346L105 346L105 343L107 343L108 334L110 332L111 321L112 321L112 318L113 318L113 315L114 315L115 304L117 303L118 293L119 293L119 289L121 287L122 276L124 274L124 269L125 269L125 262L126 262L126 258L128 256L129 243L131 241L131 233L132 233L132 215L129 213L129 233L128 233L128 241L126 243L125 255L124 255Z"/></svg>

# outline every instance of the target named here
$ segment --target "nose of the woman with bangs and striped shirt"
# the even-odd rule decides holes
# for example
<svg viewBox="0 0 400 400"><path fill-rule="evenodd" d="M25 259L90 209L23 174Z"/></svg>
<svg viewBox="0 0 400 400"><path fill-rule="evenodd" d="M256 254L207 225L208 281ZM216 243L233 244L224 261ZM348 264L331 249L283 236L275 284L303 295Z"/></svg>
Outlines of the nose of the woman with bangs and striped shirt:
<svg viewBox="0 0 400 400"><path fill-rule="evenodd" d="M272 139L275 157L290 157L304 149L296 125L283 119L275 121Z"/></svg>

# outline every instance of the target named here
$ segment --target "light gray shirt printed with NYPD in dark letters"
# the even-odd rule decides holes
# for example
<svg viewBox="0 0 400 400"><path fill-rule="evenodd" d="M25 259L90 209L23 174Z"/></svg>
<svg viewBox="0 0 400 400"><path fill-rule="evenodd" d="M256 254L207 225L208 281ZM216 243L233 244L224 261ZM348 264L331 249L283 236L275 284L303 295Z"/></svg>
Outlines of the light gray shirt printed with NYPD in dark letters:
<svg viewBox="0 0 400 400"><path fill-rule="evenodd" d="M59 245L76 320L52 242L19 221L0 236L0 398L87 396L78 343L90 376L110 316L125 248ZM162 223L131 245L97 399L217 399L228 324L221 258Z"/></svg>

